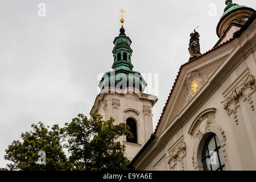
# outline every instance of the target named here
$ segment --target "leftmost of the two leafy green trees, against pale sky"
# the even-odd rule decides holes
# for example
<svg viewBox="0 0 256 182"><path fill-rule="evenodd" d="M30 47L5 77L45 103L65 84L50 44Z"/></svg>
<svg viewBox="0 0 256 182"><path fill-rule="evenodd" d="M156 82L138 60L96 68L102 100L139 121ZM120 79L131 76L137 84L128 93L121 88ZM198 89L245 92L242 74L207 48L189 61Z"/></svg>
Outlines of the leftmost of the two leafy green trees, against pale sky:
<svg viewBox="0 0 256 182"><path fill-rule="evenodd" d="M32 130L21 134L19 140L14 140L5 150L5 160L12 163L7 164L10 170L22 171L46 171L46 170L67 170L71 164L64 154L61 146L61 129L58 125L44 126L42 122L31 125ZM46 164L38 163L39 151L46 152Z"/></svg>

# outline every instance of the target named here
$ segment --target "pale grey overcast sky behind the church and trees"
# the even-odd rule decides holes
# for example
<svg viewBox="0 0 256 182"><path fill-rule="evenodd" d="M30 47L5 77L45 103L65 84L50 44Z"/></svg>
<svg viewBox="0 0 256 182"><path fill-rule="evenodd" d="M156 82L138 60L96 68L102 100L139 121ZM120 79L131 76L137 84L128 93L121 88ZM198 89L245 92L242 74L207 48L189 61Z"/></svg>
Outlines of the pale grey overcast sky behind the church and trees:
<svg viewBox="0 0 256 182"><path fill-rule="evenodd" d="M233 2L256 8L255 0ZM39 3L45 3L46 17L38 16ZM122 7L134 71L159 74L155 127L180 65L189 59L189 34L200 26L201 53L211 49L225 0L1 0L0 167L7 163L7 146L32 123L63 126L79 113L89 115L97 77L113 64Z"/></svg>

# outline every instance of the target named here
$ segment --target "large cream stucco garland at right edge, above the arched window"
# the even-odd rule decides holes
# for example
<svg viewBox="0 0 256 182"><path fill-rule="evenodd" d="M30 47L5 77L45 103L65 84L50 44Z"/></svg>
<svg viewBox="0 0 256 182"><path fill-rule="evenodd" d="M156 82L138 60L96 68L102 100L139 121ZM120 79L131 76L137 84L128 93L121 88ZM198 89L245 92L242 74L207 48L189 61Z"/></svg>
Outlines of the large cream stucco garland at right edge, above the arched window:
<svg viewBox="0 0 256 182"><path fill-rule="evenodd" d="M242 81L242 83L235 89L231 91L231 93L226 97L223 104L223 108L228 112L228 115L234 115L234 121L238 125L237 119L237 107L239 105L239 98L242 96L243 101L249 101L251 106L251 110L254 111L253 101L251 100L251 94L253 94L256 90L255 79L252 75L247 75L247 77Z"/></svg>

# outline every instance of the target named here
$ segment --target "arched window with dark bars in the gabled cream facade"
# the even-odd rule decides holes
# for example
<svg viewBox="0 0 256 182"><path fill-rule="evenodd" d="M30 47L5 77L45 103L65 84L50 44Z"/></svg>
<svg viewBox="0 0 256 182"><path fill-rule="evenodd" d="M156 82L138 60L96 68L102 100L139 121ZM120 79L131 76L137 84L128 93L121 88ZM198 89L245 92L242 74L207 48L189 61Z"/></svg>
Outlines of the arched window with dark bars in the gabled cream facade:
<svg viewBox="0 0 256 182"><path fill-rule="evenodd" d="M215 134L210 134L205 140L202 152L202 163L204 171L225 170L220 140L218 140L218 137Z"/></svg>

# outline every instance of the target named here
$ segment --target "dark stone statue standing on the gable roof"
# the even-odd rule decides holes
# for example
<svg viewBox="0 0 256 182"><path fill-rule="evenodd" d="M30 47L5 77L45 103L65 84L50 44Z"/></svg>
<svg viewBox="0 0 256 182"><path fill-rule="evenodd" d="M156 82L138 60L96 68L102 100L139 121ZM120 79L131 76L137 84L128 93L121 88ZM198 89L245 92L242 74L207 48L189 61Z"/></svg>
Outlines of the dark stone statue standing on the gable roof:
<svg viewBox="0 0 256 182"><path fill-rule="evenodd" d="M192 32L190 34L190 40L189 40L189 48L188 51L191 55L190 59L192 59L193 57L196 56L201 56L201 52L200 52L200 43L199 43L199 32L196 32L196 30L194 30L194 32Z"/></svg>

